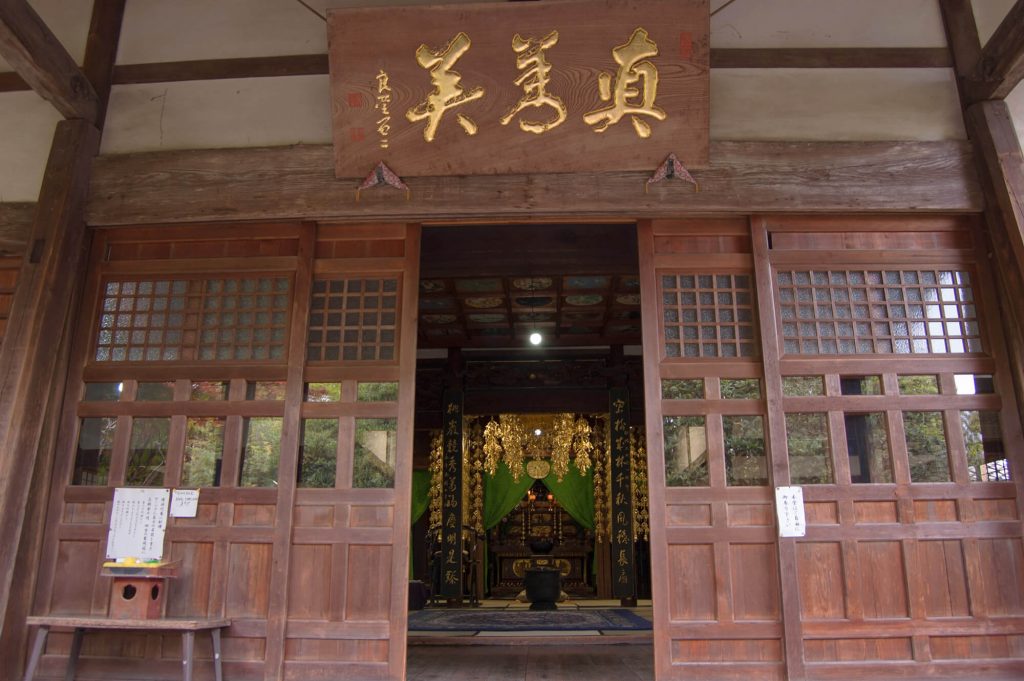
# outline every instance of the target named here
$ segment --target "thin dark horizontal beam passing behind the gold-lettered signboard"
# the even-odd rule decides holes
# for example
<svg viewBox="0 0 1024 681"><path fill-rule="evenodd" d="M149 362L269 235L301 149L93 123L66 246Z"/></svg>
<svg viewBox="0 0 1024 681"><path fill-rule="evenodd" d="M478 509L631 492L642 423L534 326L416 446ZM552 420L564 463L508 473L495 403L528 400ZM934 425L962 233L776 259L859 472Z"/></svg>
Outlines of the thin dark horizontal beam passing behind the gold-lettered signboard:
<svg viewBox="0 0 1024 681"><path fill-rule="evenodd" d="M711 66L713 69L942 69L952 66L952 57L945 47L712 48ZM327 73L327 54L284 54L123 63L114 68L114 84L321 76ZM27 89L28 83L17 74L0 74L0 92Z"/></svg>

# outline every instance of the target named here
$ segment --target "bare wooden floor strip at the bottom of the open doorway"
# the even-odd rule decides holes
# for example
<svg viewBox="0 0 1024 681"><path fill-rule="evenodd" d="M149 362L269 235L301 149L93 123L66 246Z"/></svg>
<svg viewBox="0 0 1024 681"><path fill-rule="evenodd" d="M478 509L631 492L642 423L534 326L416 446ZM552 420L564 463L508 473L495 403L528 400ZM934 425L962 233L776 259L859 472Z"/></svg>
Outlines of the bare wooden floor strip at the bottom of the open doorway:
<svg viewBox="0 0 1024 681"><path fill-rule="evenodd" d="M652 681L649 644L411 646L408 681Z"/></svg>

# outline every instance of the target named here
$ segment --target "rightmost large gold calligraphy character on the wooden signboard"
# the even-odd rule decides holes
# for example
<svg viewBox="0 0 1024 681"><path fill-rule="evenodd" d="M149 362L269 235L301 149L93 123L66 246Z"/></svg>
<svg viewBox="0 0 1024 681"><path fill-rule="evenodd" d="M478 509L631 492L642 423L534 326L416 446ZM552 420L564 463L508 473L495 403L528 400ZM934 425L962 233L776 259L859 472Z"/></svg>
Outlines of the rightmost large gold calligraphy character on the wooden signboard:
<svg viewBox="0 0 1024 681"><path fill-rule="evenodd" d="M658 121L664 121L667 116L654 105L654 98L657 96L657 68L647 60L647 57L657 55L657 45L648 38L644 29L637 28L629 42L612 49L611 55L618 63L614 88L611 86L611 74L601 72L597 79L601 100L610 101L611 104L592 111L583 120L587 125L597 126L594 132L604 132L629 115L637 134L649 137L650 125L640 116L650 116Z"/></svg>

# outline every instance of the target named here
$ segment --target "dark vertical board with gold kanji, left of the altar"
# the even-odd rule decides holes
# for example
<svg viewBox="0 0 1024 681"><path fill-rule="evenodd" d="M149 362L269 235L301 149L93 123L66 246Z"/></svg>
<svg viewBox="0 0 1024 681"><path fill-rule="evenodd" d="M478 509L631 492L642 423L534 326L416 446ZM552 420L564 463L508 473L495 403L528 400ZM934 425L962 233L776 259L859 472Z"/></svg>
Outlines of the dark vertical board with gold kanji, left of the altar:
<svg viewBox="0 0 1024 681"><path fill-rule="evenodd" d="M441 596L462 597L462 391L445 390L441 457Z"/></svg>

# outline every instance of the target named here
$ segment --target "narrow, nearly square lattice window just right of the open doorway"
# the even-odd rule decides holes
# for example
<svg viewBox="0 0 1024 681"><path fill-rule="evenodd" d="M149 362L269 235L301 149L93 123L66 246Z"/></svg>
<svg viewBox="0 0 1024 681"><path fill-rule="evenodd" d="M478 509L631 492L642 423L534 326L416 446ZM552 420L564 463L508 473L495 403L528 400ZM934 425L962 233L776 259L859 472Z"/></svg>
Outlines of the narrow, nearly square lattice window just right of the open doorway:
<svg viewBox="0 0 1024 681"><path fill-rule="evenodd" d="M667 357L753 357L756 338L750 274L662 275Z"/></svg>

